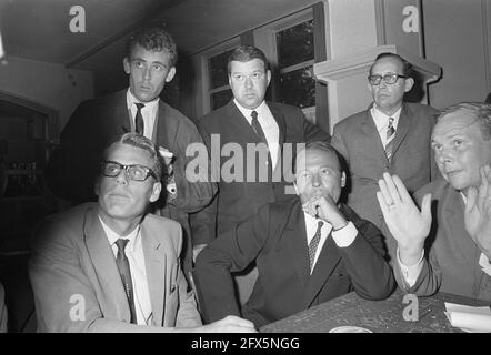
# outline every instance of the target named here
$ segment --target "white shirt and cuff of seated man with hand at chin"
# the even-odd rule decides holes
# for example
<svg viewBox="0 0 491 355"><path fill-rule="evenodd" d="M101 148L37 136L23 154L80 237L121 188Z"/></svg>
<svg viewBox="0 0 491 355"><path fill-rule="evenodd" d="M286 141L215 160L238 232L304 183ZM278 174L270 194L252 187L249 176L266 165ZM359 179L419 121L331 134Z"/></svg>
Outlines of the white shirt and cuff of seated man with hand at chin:
<svg viewBox="0 0 491 355"><path fill-rule="evenodd" d="M331 231L332 231L332 225L329 222L325 222L324 220L315 219L314 216L310 215L305 211L303 211L303 215L305 216L307 245L310 244L310 241L315 235L315 232L317 232L317 229L319 225L319 221L324 222L324 224L322 224L322 227L321 227L321 239L319 241L319 245L315 251L315 257L313 260L312 270L310 271L310 274L312 274L312 272L315 267L315 264L317 264L317 260L319 258L319 255L321 253L322 246L324 245L325 240L329 236L329 233L331 233ZM332 235L332 239L334 240L335 245L338 245L339 247L347 247L347 246L350 246L351 243L354 242L354 239L358 235L358 230L354 226L354 224L350 221L350 222L348 222L348 224L344 227L342 227L338 231L332 231L331 235Z"/></svg>

